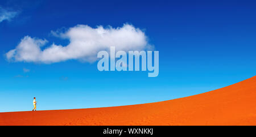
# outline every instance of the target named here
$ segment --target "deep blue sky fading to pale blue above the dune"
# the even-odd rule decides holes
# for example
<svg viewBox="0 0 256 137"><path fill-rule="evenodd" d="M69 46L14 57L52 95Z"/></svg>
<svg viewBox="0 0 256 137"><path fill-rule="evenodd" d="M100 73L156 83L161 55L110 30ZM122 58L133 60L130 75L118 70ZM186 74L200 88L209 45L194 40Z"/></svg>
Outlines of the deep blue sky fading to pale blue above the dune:
<svg viewBox="0 0 256 137"><path fill-rule="evenodd" d="M1 1L0 112L96 108L164 101L240 82L256 70L253 1ZM4 9L4 10L1 10ZM1 15L0 14L0 15ZM1 20L1 18L0 18ZM68 45L51 31L132 24L159 51L159 75L98 71L97 62L11 62L24 36Z"/></svg>

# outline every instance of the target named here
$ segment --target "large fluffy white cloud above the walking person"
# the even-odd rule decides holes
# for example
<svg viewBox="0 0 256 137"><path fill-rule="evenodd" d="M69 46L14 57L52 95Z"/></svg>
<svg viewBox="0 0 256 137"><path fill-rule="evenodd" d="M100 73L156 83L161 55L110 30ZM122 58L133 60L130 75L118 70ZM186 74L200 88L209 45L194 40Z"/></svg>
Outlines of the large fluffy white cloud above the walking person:
<svg viewBox="0 0 256 137"><path fill-rule="evenodd" d="M52 32L52 34L67 38L69 44L67 46L52 44L42 50L47 40L25 36L15 49L6 53L6 58L16 62L55 63L68 59L94 62L97 53L100 50L109 50L110 46L125 51L151 48L144 32L130 24L118 28L76 25L65 32Z"/></svg>

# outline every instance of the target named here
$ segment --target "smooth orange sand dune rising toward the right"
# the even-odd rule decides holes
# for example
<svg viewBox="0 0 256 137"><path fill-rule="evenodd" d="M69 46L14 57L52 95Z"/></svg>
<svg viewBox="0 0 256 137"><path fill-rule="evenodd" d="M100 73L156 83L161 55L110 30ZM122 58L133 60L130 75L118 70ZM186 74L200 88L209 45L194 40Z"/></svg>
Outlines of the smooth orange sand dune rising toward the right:
<svg viewBox="0 0 256 137"><path fill-rule="evenodd" d="M0 125L256 125L256 76L215 91L162 102L0 113Z"/></svg>

